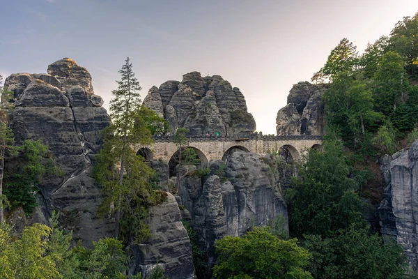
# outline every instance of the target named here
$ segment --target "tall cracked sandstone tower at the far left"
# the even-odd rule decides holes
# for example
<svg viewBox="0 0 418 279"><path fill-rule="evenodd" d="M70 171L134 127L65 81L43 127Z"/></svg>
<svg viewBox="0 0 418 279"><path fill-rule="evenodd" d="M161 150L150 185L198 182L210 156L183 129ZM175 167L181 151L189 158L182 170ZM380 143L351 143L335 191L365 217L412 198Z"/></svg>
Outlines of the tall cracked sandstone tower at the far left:
<svg viewBox="0 0 418 279"><path fill-rule="evenodd" d="M109 126L102 98L94 95L91 75L71 59L48 66L47 74L17 73L6 79L14 92L13 133L17 143L42 140L54 155L63 176L42 181L37 221L61 212L63 225L75 239L91 246L113 234L112 220L99 219L100 188L91 177L94 156L102 144L100 132Z"/></svg>

